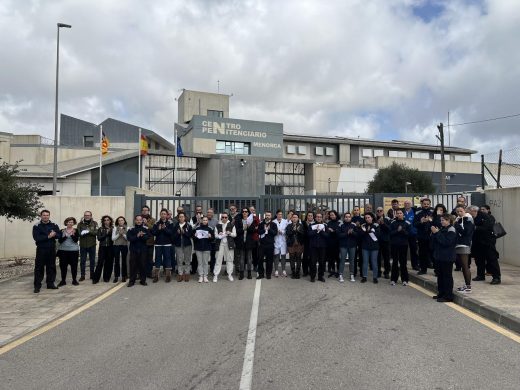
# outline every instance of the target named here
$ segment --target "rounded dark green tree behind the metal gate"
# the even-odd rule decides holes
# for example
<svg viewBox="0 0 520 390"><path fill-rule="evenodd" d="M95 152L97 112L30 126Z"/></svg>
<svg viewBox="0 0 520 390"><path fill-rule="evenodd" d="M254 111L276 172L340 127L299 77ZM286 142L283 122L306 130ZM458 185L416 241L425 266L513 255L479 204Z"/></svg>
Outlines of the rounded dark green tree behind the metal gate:
<svg viewBox="0 0 520 390"><path fill-rule="evenodd" d="M406 183L408 192L428 194L435 192L432 178L418 169L408 168L404 164L392 163L389 167L377 170L374 179L368 182L369 193L402 193Z"/></svg>

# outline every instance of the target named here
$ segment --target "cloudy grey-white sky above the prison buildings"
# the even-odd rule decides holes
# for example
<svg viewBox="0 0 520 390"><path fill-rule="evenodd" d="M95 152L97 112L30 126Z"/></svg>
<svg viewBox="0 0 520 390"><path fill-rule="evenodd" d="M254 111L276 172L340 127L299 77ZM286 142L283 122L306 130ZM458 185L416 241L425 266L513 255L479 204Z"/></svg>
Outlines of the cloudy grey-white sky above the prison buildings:
<svg viewBox="0 0 520 390"><path fill-rule="evenodd" d="M285 132L436 143L435 124L520 113L518 0L0 0L0 131L53 138L60 112L171 137L182 88ZM517 43L515 43L517 42ZM520 116L451 144L520 146Z"/></svg>

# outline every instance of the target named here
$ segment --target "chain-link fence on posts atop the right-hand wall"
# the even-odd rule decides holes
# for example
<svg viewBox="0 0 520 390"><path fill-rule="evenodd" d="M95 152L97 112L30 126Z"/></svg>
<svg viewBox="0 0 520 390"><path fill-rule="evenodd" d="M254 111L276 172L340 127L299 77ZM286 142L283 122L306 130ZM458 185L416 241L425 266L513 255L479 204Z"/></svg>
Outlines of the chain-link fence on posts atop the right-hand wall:
<svg viewBox="0 0 520 390"><path fill-rule="evenodd" d="M481 158L483 188L520 186L520 146L483 154Z"/></svg>

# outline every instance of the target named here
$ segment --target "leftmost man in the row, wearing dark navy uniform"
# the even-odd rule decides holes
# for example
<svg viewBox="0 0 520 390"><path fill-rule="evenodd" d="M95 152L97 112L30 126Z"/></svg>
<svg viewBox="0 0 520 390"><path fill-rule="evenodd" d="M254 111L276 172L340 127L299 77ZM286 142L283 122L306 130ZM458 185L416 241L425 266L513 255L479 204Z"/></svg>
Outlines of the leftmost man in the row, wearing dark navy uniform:
<svg viewBox="0 0 520 390"><path fill-rule="evenodd" d="M40 212L40 222L33 226L32 235L36 243L36 259L34 260L34 293L42 288L44 274L47 275L47 288L55 290L56 280L56 240L61 237L58 225L51 222L49 210Z"/></svg>

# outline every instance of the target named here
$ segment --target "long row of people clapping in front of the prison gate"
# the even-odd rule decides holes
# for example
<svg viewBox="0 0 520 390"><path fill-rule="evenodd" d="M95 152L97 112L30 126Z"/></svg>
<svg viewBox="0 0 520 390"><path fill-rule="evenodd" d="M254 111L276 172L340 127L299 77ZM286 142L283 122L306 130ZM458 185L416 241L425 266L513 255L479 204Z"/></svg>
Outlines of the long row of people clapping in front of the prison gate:
<svg viewBox="0 0 520 390"><path fill-rule="evenodd" d="M172 280L174 272L178 282L188 282L191 274L198 274L199 283L211 279L218 282L222 266L226 265L229 281L271 277L285 278L287 260L290 277L309 277L325 282L328 277L345 281L345 266L351 282L359 274L361 283L367 282L369 269L372 281L390 279L395 286L399 278L403 285L409 282L407 259L410 253L412 268L418 274L433 268L438 277L440 302L453 299L453 264L464 273L465 284L461 292L471 292L471 281L485 280L491 274L492 284L500 283L498 252L495 249L493 225L488 206L465 204L460 197L457 207L448 214L444 205L431 208L430 199L421 200L420 207L397 200L385 213L377 207L375 214L370 204L359 206L339 215L336 211L308 211L302 215L278 210L274 215L266 211L262 218L253 206L238 210L229 206L229 212L215 217L213 209L203 211L195 207L190 218L182 207L176 215L162 209L158 220L143 206L129 227L123 216L105 215L100 224L92 213L85 211L77 223L74 217L64 221L60 229L50 221L50 212L43 210L40 221L33 227L36 242L34 292L41 289L44 268L47 288L55 289L66 284L70 267L72 284L86 278L89 258L89 277L92 283L101 278L109 282L122 282L133 286L137 279L146 285L147 277L157 283L162 276ZM57 242L56 242L57 241ZM96 248L97 262L96 262ZM59 258L61 281L56 286L56 256ZM129 270L127 269L127 256ZM477 276L471 279L470 262L475 258ZM78 276L78 262L80 277Z"/></svg>

